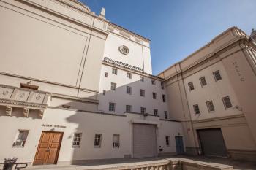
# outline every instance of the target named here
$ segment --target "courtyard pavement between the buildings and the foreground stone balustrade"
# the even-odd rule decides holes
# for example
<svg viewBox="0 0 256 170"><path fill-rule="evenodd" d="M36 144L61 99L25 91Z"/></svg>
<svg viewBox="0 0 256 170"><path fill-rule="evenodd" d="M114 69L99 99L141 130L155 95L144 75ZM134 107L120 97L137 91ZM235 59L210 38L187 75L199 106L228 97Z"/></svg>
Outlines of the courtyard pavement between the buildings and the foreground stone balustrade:
<svg viewBox="0 0 256 170"><path fill-rule="evenodd" d="M157 158L132 158L129 160L102 160L102 161L91 161L85 163L83 165L69 165L69 166L61 166L61 165L49 165L49 166L31 166L29 169L41 170L92 170L92 169L111 169L112 167L118 166L134 166L136 164L148 164L148 163L159 163L170 160L170 159L178 159L184 158L191 161L203 161L206 163L220 163L224 165L233 166L236 170L256 170L256 161L233 161L229 158L211 158L211 157L189 157L189 156L180 156L180 157L157 157Z"/></svg>

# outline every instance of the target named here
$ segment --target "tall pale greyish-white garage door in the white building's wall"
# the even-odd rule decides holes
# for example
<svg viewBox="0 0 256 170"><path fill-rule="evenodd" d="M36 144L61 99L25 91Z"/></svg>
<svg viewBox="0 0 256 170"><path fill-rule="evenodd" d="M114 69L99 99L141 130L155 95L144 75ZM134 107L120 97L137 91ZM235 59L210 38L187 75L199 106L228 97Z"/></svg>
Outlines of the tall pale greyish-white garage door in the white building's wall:
<svg viewBox="0 0 256 170"><path fill-rule="evenodd" d="M157 156L156 125L133 124L133 157Z"/></svg>

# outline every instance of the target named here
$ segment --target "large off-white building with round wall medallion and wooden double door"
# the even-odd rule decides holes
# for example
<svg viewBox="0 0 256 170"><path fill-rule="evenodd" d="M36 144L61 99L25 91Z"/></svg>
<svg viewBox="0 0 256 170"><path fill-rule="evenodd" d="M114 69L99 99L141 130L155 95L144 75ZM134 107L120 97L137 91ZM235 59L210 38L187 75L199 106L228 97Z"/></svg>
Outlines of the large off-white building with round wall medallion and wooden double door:
<svg viewBox="0 0 256 170"><path fill-rule="evenodd" d="M184 152L163 79L151 75L148 39L75 0L0 4L1 161Z"/></svg>

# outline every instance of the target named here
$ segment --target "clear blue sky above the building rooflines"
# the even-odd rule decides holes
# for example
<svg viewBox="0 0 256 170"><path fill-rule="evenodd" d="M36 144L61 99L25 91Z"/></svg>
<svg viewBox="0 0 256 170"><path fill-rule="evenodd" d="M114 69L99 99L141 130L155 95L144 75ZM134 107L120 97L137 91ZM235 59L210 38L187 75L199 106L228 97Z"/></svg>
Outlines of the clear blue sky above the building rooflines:
<svg viewBox="0 0 256 170"><path fill-rule="evenodd" d="M181 61L231 26L256 28L256 0L80 0L151 39L153 74Z"/></svg>

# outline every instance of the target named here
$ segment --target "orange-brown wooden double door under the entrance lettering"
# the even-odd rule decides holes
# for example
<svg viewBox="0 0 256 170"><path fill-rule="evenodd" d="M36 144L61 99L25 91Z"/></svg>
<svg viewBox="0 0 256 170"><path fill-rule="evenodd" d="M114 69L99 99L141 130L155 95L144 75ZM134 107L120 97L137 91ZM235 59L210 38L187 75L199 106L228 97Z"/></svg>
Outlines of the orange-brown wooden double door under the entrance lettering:
<svg viewBox="0 0 256 170"><path fill-rule="evenodd" d="M34 165L56 164L63 133L43 131L34 158Z"/></svg>

